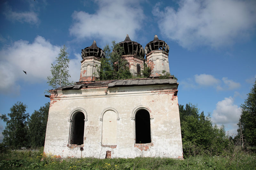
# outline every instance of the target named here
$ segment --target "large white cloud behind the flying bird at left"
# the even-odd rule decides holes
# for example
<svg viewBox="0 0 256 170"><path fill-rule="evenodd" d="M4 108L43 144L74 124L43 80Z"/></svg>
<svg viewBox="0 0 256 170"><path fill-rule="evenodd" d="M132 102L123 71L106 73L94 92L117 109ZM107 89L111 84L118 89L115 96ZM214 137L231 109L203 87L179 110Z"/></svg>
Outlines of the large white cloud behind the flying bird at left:
<svg viewBox="0 0 256 170"><path fill-rule="evenodd" d="M20 79L37 83L50 75L51 63L55 61L60 51L59 46L52 45L41 36L37 36L33 43L20 40L12 46L4 47L0 51L0 91L17 89L16 82ZM23 72L27 71L27 75Z"/></svg>

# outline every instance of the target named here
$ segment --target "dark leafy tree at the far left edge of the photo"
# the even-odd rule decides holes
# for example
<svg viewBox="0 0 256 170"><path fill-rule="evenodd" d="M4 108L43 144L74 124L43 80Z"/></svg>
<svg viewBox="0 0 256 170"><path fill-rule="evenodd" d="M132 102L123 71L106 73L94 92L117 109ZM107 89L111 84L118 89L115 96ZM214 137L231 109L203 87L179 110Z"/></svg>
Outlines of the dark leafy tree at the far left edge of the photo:
<svg viewBox="0 0 256 170"><path fill-rule="evenodd" d="M15 103L11 108L8 117L4 114L1 119L6 123L2 134L3 143L12 148L21 148L28 146L28 118L26 112L27 106L21 102ZM9 119L10 118L10 119Z"/></svg>

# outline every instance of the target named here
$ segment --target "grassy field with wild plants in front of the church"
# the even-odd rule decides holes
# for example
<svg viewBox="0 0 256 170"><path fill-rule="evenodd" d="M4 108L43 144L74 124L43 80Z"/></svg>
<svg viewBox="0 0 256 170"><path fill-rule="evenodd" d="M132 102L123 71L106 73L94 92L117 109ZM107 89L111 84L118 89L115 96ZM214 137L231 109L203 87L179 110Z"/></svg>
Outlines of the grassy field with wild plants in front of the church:
<svg viewBox="0 0 256 170"><path fill-rule="evenodd" d="M43 158L43 159L42 159ZM184 160L170 158L60 159L43 155L43 148L34 151L5 151L0 153L0 169L256 169L256 155L251 152L233 152L225 155L188 156Z"/></svg>

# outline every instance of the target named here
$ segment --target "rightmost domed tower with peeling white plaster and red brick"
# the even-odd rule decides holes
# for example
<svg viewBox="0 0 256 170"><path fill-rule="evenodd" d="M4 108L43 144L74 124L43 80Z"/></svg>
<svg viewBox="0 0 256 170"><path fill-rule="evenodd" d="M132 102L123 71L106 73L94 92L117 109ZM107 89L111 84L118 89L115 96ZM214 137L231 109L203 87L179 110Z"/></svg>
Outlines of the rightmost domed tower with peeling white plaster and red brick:
<svg viewBox="0 0 256 170"><path fill-rule="evenodd" d="M146 61L152 72L150 77L158 77L163 71L170 73L169 69L169 49L170 47L155 35L145 47Z"/></svg>

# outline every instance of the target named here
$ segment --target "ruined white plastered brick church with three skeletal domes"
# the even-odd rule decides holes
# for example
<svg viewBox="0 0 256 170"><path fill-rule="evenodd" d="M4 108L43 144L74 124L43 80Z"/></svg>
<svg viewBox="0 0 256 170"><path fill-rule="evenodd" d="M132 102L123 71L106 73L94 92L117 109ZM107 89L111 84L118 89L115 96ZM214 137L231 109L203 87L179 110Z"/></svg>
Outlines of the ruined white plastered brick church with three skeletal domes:
<svg viewBox="0 0 256 170"><path fill-rule="evenodd" d="M170 73L169 46L156 35L145 48L128 35L119 45L126 67L138 78L99 80L104 51L95 41L82 49L79 82L49 91L45 154L183 159L179 83L173 76L159 78ZM144 63L151 68L149 78L139 78Z"/></svg>

